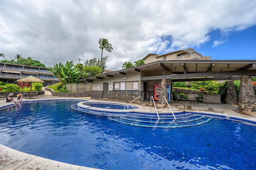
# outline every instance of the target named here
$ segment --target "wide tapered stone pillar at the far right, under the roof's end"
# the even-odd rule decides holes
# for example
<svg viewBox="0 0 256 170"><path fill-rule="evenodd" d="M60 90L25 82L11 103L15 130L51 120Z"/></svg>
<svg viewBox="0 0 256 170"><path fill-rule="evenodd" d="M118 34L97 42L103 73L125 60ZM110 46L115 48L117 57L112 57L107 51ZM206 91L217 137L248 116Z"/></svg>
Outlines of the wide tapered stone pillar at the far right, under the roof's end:
<svg viewBox="0 0 256 170"><path fill-rule="evenodd" d="M242 75L240 79L238 109L242 111L256 112L256 97L249 75Z"/></svg>

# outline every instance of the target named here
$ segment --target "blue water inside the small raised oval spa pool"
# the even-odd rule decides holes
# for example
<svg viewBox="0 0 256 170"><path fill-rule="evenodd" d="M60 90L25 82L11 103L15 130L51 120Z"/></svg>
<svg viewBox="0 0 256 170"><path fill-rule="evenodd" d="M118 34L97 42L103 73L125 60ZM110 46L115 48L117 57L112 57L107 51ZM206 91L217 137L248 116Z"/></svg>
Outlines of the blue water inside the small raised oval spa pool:
<svg viewBox="0 0 256 170"><path fill-rule="evenodd" d="M98 107L98 108L104 108L104 109L127 109L127 105L121 105L121 104L110 104L110 103L84 103L86 106L90 107ZM128 106L129 109L137 109L137 107L131 107Z"/></svg>

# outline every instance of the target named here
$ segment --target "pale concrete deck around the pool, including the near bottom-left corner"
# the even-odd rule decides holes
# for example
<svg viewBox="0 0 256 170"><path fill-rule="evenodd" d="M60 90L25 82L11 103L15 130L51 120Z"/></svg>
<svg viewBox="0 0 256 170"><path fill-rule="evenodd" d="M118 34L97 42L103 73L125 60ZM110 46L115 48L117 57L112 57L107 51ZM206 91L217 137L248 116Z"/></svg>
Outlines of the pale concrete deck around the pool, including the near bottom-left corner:
<svg viewBox="0 0 256 170"><path fill-rule="evenodd" d="M38 99L23 99L25 101L38 101L38 100L47 100L47 99L87 99L90 101L108 101L108 100L96 100L90 99L90 97L79 97L79 98L67 98L67 97L54 97L48 91L45 91L44 95L40 95ZM118 101L109 101L116 103L124 103ZM157 102L158 103L158 102ZM125 103L128 104L128 103ZM13 105L5 102L5 99L0 100L0 107L4 105ZM141 103L136 101L131 105L135 105L139 107L140 111L148 111L155 112L154 106L152 106L152 111L150 111L150 101ZM166 113L170 112L168 105L156 104L158 109L158 113ZM172 102L170 105L172 111L182 112L198 112L198 113L214 113L215 115L223 115L226 117L236 117L240 119L246 119L250 121L256 122L256 113L254 112L245 112L238 110L237 105L226 105L226 104L194 104L190 102ZM46 158L42 158L39 156L34 156L31 154L26 154L24 152L19 152L17 150L8 148L4 145L0 144L0 169L1 170L22 170L22 169L30 169L30 170L96 170L95 168L87 168L84 166L77 166L72 164L67 164L63 162L58 162L54 160L49 160Z"/></svg>

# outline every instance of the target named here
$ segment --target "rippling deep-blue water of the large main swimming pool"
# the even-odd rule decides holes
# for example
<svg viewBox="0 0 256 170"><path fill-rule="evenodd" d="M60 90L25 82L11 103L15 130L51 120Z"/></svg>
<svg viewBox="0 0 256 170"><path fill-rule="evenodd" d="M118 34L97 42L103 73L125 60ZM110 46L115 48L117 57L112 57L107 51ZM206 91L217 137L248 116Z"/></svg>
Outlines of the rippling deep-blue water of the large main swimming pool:
<svg viewBox="0 0 256 170"><path fill-rule="evenodd" d="M106 170L256 167L255 126L213 117L189 127L156 128L154 120L152 127L138 127L72 109L78 102L30 102L0 109L0 144Z"/></svg>

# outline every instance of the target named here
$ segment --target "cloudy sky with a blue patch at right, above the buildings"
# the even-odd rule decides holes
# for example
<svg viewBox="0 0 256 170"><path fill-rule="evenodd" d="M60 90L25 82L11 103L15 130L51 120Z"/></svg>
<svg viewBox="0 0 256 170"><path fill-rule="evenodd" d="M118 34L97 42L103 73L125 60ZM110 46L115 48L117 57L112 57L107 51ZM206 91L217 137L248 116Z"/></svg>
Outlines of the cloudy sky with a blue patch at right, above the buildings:
<svg viewBox="0 0 256 170"><path fill-rule="evenodd" d="M211 59L256 59L256 0L0 0L0 53L47 67L100 58L107 69L148 53L194 48Z"/></svg>

